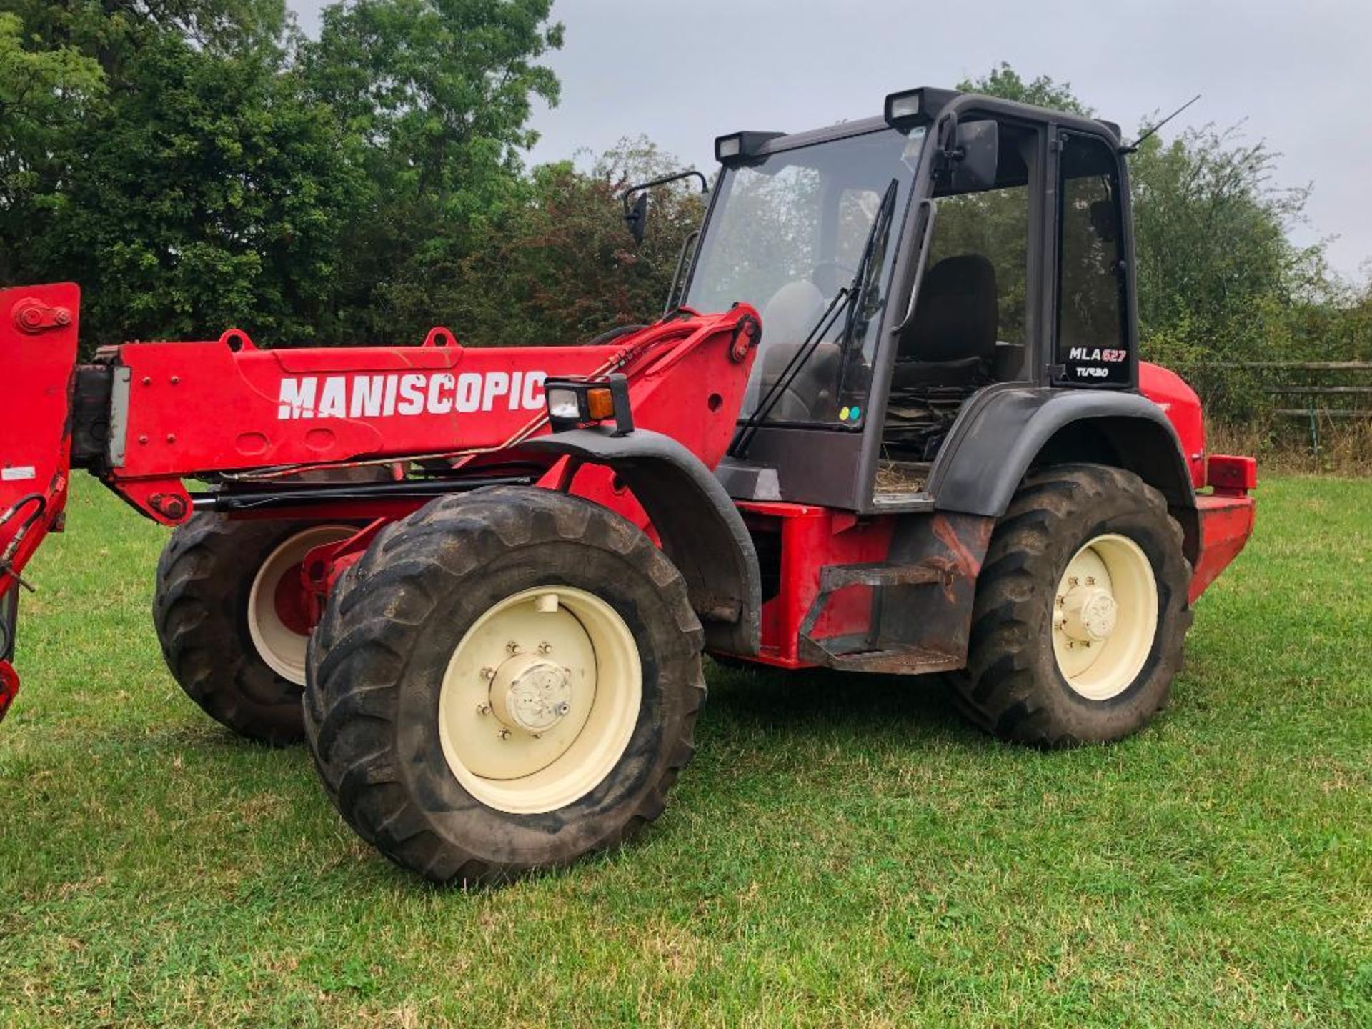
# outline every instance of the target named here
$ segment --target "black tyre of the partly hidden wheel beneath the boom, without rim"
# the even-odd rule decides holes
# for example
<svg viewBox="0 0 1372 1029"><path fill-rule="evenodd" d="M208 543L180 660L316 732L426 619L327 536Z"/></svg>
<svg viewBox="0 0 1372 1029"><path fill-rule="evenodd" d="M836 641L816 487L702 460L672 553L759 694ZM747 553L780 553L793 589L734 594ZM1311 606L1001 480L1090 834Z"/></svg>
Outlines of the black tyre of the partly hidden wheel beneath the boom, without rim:
<svg viewBox="0 0 1372 1029"><path fill-rule="evenodd" d="M232 606L225 598L257 573L252 556L280 534L279 523L192 514L158 558L152 600L162 656L187 696L239 735L272 746L303 735L300 687L257 656L246 622L225 611Z"/></svg>

